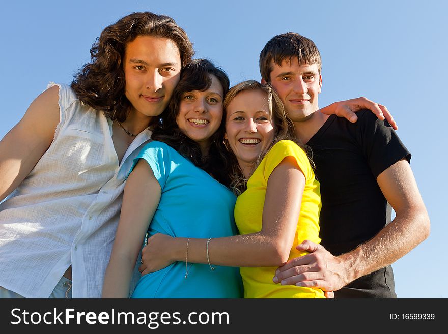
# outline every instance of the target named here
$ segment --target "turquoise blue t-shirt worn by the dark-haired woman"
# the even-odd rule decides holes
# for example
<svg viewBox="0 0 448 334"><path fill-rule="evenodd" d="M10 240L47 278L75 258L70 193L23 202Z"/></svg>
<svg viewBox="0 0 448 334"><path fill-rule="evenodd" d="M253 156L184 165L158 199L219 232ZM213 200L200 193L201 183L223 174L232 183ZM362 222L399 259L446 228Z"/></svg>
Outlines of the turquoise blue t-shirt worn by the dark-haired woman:
<svg viewBox="0 0 448 334"><path fill-rule="evenodd" d="M148 162L162 189L149 225L150 236L217 238L238 234L233 214L236 197L227 187L159 141L147 144L134 159L134 166L139 159ZM185 262L143 276L131 298L242 297L239 268L216 266L212 271L208 264L190 263L188 267L187 278Z"/></svg>

